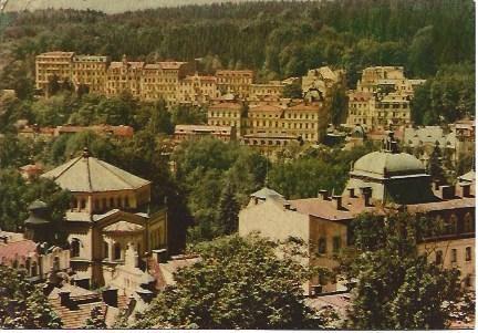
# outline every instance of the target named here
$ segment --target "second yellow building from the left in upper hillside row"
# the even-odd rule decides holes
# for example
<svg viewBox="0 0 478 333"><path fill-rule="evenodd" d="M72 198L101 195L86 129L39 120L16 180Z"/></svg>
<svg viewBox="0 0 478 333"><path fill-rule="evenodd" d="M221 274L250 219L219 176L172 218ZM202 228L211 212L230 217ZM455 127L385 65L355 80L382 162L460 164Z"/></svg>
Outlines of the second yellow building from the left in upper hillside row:
<svg viewBox="0 0 478 333"><path fill-rule="evenodd" d="M108 56L74 55L72 82L75 89L86 85L90 93L104 94L108 65Z"/></svg>

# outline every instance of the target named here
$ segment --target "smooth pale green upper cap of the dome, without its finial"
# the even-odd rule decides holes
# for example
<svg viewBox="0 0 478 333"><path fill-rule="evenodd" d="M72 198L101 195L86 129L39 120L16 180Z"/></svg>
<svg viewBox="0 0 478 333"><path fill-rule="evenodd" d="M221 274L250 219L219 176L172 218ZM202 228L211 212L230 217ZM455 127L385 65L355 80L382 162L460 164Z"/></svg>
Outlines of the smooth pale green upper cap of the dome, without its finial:
<svg viewBox="0 0 478 333"><path fill-rule="evenodd" d="M353 171L387 175L416 175L425 174L425 167L415 156L389 152L373 152L358 158Z"/></svg>

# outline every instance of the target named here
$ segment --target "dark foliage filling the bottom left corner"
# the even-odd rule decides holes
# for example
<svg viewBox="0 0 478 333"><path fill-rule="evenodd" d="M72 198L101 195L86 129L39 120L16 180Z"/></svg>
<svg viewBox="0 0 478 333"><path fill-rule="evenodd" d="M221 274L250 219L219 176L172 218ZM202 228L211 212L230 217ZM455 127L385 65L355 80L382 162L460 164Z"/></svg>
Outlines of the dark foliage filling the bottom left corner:
<svg viewBox="0 0 478 333"><path fill-rule="evenodd" d="M25 274L0 266L0 327L61 329L61 320L51 309L41 289Z"/></svg>

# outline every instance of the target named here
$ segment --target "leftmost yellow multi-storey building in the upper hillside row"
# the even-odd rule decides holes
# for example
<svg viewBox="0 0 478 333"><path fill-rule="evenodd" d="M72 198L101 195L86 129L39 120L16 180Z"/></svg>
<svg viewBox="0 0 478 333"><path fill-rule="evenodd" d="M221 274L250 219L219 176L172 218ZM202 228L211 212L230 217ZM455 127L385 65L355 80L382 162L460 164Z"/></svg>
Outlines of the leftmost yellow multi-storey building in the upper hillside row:
<svg viewBox="0 0 478 333"><path fill-rule="evenodd" d="M37 89L46 90L51 77L58 77L59 82L72 80L73 52L46 52L35 58Z"/></svg>

